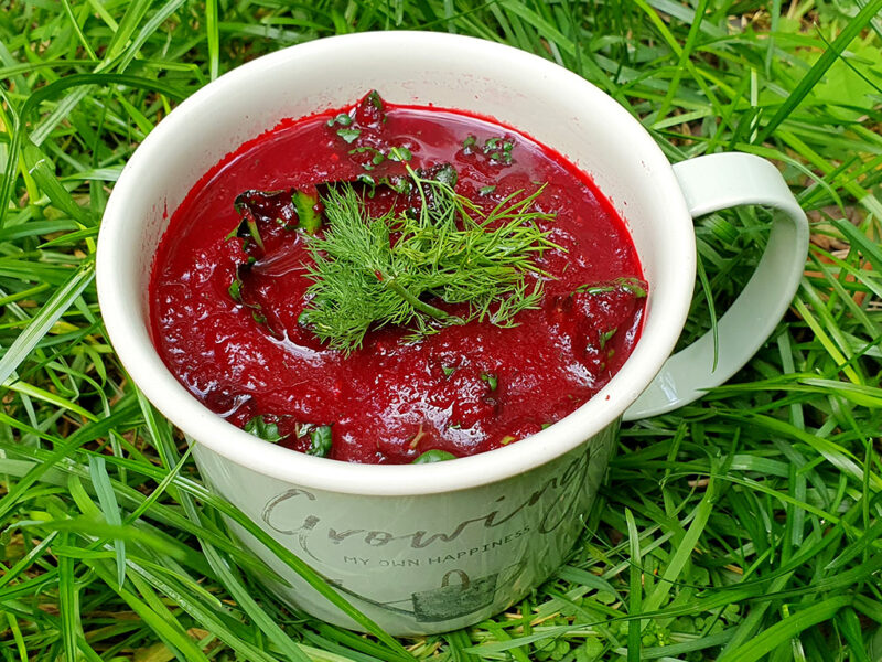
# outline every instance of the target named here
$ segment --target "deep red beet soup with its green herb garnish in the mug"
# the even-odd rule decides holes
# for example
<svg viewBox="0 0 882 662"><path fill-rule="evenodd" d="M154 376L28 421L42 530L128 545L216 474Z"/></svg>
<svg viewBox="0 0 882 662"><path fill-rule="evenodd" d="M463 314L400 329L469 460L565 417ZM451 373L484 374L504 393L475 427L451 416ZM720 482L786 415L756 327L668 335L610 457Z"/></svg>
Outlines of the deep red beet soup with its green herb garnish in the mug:
<svg viewBox="0 0 882 662"><path fill-rule="evenodd" d="M207 407L354 462L474 455L621 367L646 284L622 220L559 153L455 110L284 121L174 212L153 340Z"/></svg>

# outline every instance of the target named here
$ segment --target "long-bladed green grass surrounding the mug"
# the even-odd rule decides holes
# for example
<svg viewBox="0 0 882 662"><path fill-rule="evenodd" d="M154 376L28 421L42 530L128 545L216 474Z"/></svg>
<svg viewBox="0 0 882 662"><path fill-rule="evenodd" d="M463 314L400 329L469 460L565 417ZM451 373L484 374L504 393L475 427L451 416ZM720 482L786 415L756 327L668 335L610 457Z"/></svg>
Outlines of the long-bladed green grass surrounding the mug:
<svg viewBox="0 0 882 662"><path fill-rule="evenodd" d="M401 641L266 594L93 281L114 181L178 100L280 46L396 28L553 60L671 160L772 159L814 233L750 365L623 429L567 566L493 620ZM882 0L7 0L0 82L2 660L882 660ZM697 223L714 303L699 287L686 338L766 224Z"/></svg>

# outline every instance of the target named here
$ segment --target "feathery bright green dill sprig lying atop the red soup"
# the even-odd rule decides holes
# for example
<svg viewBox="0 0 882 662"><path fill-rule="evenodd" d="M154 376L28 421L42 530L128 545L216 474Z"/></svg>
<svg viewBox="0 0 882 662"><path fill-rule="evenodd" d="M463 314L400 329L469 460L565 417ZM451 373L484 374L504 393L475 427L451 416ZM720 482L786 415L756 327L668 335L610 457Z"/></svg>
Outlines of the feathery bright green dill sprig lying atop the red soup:
<svg viewBox="0 0 882 662"><path fill-rule="evenodd" d="M533 260L557 248L538 222L553 216L533 210L541 193L516 192L484 213L443 181L408 167L418 209L369 217L348 183L323 197L325 233L310 239L314 264L300 322L331 348L359 348L365 333L388 324L410 327L417 337L451 324L490 320L515 324L521 310L537 308L547 276ZM467 305L452 314L434 306Z"/></svg>

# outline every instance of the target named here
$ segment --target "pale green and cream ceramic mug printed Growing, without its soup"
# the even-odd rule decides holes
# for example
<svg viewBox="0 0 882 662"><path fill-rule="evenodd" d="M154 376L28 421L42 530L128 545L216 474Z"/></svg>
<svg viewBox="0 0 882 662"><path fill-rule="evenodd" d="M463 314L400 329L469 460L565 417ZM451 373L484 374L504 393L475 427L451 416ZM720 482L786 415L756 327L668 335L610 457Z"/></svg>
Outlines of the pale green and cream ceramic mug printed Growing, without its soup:
<svg viewBox="0 0 882 662"><path fill-rule="evenodd" d="M469 110L520 129L587 171L631 231L650 284L639 342L598 395L533 437L417 466L300 455L214 415L153 349L148 282L169 212L244 141L282 118L352 104L372 88L391 103ZM717 367L710 337L669 357L695 282L692 216L739 204L782 213L756 274L719 322ZM551 574L582 530L619 421L673 409L734 374L785 312L807 245L805 215L767 161L723 153L671 167L612 98L540 57L450 34L364 33L260 57L163 119L126 166L107 205L98 293L120 360L195 442L207 483L388 632L416 634L486 618ZM355 627L239 533L290 584L275 586L279 595Z"/></svg>

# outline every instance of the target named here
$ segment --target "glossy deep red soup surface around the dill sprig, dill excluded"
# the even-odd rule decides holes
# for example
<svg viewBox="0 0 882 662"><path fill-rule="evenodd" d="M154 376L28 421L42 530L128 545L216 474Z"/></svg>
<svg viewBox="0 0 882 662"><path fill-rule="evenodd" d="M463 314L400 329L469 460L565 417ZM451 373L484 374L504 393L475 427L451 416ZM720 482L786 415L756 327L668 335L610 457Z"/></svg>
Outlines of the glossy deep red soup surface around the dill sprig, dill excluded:
<svg viewBox="0 0 882 662"><path fill-rule="evenodd" d="M381 121L364 100L343 111L354 118L348 127L329 126L338 110L323 113L246 143L174 213L150 300L155 345L181 383L240 427L258 416L275 424L272 437L290 448L314 451L312 426L331 426L327 457L390 463L433 449L466 456L497 448L559 420L605 385L637 339L645 299L609 287L641 278L641 266L623 222L588 178L528 137L462 113L386 105ZM338 135L342 128L358 136ZM369 149L351 153L358 147ZM471 322L419 342L405 340L412 330L372 331L345 356L298 323L311 282L309 235L268 223L266 253L243 278L244 301L259 303L267 318L257 321L255 308L228 291L246 259L243 239L227 238L239 225L236 196L404 173L401 162L373 163L391 147L410 150L413 168L453 164L456 191L484 207L547 184L536 206L556 214L545 226L562 250L536 260L553 275L541 307L519 313L514 328ZM392 199L380 188L368 204L388 207Z"/></svg>

